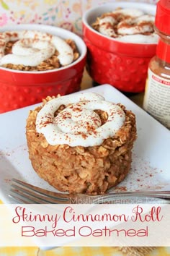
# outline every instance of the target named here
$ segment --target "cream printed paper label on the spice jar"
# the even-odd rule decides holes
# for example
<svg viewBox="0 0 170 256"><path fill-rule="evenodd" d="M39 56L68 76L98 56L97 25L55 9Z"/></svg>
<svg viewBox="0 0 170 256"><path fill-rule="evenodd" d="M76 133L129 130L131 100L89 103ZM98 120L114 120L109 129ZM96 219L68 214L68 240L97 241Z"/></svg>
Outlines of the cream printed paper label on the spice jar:
<svg viewBox="0 0 170 256"><path fill-rule="evenodd" d="M143 108L170 129L170 81L148 69Z"/></svg>

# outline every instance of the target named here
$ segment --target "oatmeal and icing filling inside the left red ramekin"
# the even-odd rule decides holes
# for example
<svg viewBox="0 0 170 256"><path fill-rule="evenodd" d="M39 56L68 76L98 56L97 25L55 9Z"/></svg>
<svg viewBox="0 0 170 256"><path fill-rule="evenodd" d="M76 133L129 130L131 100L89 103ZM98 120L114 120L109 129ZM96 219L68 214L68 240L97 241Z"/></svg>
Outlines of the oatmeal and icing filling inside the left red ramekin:
<svg viewBox="0 0 170 256"><path fill-rule="evenodd" d="M37 30L0 33L0 67L21 71L45 71L65 67L79 58L71 39Z"/></svg>

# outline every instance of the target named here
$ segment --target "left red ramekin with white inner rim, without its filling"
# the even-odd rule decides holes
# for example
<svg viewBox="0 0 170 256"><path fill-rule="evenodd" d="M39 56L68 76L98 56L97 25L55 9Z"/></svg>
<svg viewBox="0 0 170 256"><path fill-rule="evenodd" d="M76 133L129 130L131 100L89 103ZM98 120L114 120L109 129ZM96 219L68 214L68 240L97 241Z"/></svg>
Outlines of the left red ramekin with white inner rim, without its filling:
<svg viewBox="0 0 170 256"><path fill-rule="evenodd" d="M66 67L42 72L25 72L0 67L0 113L22 108L42 101L48 95L66 95L79 91L86 64L86 45L76 34L48 25L16 25L7 30L38 30L71 38L79 49L79 59Z"/></svg>

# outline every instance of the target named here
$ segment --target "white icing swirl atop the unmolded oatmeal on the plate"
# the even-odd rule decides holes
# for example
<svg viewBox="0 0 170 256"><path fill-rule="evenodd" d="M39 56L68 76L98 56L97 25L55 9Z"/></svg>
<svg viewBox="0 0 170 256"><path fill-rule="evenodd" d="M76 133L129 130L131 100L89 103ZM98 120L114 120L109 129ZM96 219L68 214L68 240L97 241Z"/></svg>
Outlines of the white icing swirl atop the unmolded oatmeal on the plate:
<svg viewBox="0 0 170 256"><path fill-rule="evenodd" d="M66 108L55 116L55 111L62 105ZM107 112L104 124L95 110ZM113 137L124 121L125 113L120 106L105 101L97 93L81 93L45 103L37 114L36 130L50 145L89 147L101 145L105 139Z"/></svg>

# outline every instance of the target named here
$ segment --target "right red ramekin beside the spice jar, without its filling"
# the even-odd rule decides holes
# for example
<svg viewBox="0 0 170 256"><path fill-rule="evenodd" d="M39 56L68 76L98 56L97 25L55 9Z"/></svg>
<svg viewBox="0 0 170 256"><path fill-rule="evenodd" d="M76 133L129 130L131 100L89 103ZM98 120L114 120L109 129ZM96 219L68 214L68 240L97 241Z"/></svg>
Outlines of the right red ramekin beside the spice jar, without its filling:
<svg viewBox="0 0 170 256"><path fill-rule="evenodd" d="M124 92L140 93L145 88L148 62L156 54L156 43L124 43L91 27L97 17L117 7L156 13L156 6L152 4L130 2L104 4L86 11L83 16L84 41L88 48L86 68L99 84L109 83Z"/></svg>

